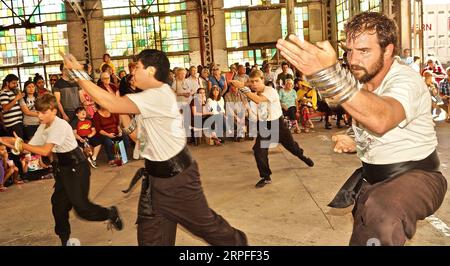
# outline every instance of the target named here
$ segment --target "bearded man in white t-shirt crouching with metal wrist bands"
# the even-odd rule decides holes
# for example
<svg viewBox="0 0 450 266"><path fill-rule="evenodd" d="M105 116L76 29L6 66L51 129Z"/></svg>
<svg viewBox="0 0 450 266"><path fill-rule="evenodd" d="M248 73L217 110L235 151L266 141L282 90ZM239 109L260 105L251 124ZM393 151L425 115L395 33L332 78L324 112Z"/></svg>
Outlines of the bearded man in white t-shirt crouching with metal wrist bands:
<svg viewBox="0 0 450 266"><path fill-rule="evenodd" d="M364 12L345 31L350 72L340 67L329 42L313 45L290 36L277 47L328 103L341 105L356 120L354 139L333 137L334 151L356 151L362 161L331 203L347 207L356 201L350 245L403 245L447 191L430 94L418 73L394 59L393 20Z"/></svg>

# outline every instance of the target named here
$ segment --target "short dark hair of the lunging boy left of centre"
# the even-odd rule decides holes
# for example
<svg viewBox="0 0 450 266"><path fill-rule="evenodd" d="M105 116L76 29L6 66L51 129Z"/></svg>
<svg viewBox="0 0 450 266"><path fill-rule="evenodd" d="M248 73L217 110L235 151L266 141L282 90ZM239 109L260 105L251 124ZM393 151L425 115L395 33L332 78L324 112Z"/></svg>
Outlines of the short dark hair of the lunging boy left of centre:
<svg viewBox="0 0 450 266"><path fill-rule="evenodd" d="M136 56L135 61L141 61L144 68L152 66L156 69L155 78L167 83L169 78L170 62L167 55L156 49L145 49Z"/></svg>

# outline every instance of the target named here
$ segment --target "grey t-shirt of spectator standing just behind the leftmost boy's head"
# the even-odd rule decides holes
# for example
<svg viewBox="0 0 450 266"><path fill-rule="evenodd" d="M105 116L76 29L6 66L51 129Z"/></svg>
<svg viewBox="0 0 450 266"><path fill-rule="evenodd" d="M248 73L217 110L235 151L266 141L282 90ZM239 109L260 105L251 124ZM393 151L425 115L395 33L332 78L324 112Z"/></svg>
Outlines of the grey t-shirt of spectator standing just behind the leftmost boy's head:
<svg viewBox="0 0 450 266"><path fill-rule="evenodd" d="M61 93L61 105L67 111L75 111L82 105L79 90L80 87L76 83L67 82L64 79L58 79L53 86L53 93Z"/></svg>

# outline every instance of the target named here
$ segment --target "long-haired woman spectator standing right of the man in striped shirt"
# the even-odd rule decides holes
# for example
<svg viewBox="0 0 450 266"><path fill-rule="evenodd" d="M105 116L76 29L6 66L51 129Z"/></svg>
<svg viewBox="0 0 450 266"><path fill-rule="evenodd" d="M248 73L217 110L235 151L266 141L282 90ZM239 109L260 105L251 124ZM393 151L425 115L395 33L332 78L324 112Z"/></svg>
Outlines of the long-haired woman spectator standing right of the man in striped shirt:
<svg viewBox="0 0 450 266"><path fill-rule="evenodd" d="M35 77L36 79L36 77ZM39 126L39 117L37 117L34 103L37 100L38 92L36 91L35 83L31 80L25 82L25 97L23 102L31 113L24 113L23 115L23 131L26 140L30 140Z"/></svg>

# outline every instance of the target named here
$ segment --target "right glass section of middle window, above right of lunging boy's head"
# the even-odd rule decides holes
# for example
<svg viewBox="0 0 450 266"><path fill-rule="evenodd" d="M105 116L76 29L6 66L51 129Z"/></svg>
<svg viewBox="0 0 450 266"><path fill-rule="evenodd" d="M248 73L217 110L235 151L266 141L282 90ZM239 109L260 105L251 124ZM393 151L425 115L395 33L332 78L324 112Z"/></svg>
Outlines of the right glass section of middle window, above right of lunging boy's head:
<svg viewBox="0 0 450 266"><path fill-rule="evenodd" d="M189 50L189 39L186 39L186 16L162 17L160 19L162 50L179 52Z"/></svg>

